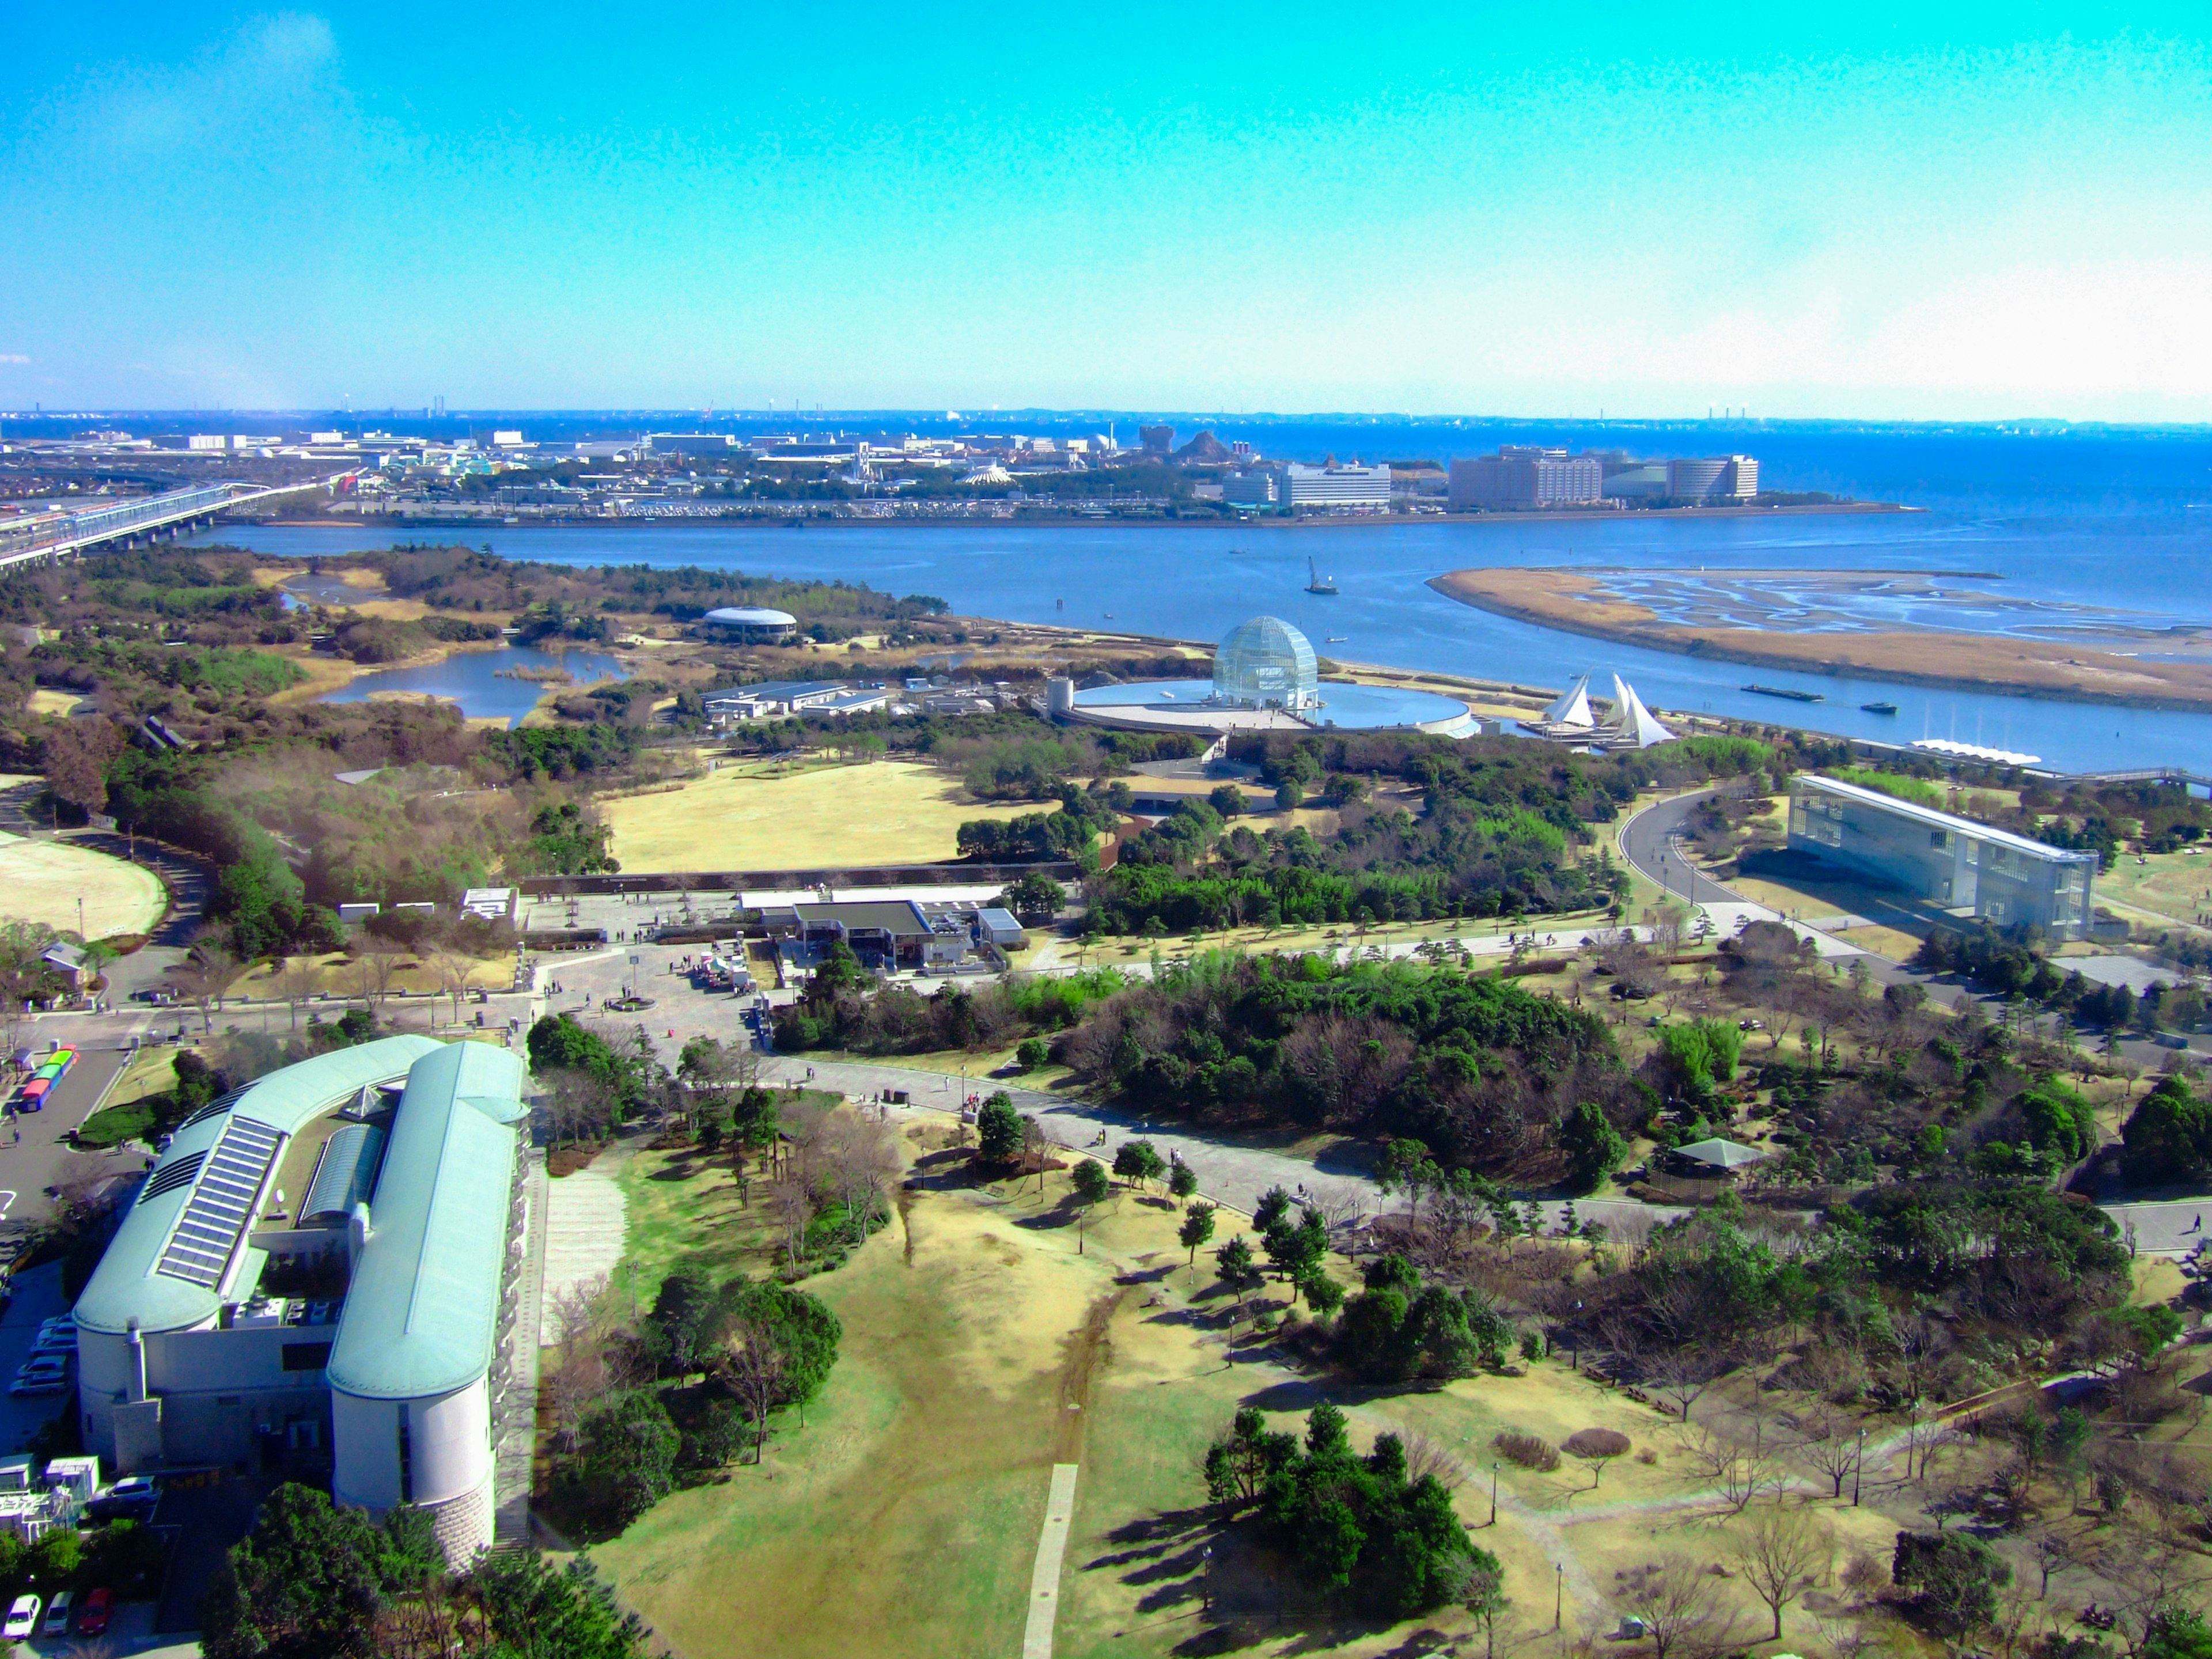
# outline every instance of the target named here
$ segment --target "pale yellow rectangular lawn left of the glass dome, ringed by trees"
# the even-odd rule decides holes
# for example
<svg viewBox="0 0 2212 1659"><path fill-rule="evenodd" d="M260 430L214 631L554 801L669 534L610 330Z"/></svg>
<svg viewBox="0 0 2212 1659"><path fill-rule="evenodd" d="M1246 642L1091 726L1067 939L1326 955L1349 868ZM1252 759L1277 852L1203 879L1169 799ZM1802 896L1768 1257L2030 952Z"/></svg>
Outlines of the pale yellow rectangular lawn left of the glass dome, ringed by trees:
<svg viewBox="0 0 2212 1659"><path fill-rule="evenodd" d="M628 874L936 863L958 856L956 836L967 818L1042 810L962 801L958 776L914 761L776 776L723 765L677 790L602 801Z"/></svg>

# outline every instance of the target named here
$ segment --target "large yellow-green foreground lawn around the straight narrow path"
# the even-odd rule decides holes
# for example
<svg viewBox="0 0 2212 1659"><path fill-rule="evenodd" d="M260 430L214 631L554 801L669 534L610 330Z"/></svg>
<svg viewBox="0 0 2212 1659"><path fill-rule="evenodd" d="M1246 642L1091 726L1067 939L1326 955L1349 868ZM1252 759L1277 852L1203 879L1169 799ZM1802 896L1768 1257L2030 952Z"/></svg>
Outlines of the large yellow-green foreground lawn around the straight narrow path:
<svg viewBox="0 0 2212 1659"><path fill-rule="evenodd" d="M905 1155L951 1172L960 1155L945 1150L947 1135L911 1126ZM703 1250L717 1272L759 1270L761 1223L721 1166L641 1152L619 1179L641 1305L684 1252ZM1314 1402L1334 1398L1363 1447L1383 1431L1420 1431L1455 1453L1467 1473L1458 1511L1506 1573L1500 1650L1555 1641L1555 1593L1566 1641L1599 1639L1617 1617L1619 1573L1661 1555L1728 1559L1750 1524L1705 1491L1663 1413L1564 1360L1380 1394L1290 1371L1245 1347L1248 1325L1230 1316L1206 1256L1197 1274L1186 1267L1172 1203L1117 1192L1077 1254L1064 1190L1060 1172L1042 1199L1035 1181L907 1190L845 1267L805 1281L845 1327L805 1427L787 1425L765 1467L737 1464L681 1491L595 1551L672 1650L1018 1652L1051 1467L1075 1462L1060 1655L1482 1652L1458 1608L1363 1624L1301 1597L1296 1571L1276 1571L1248 1531L1212 1526L1199 1458L1241 1405L1296 1431ZM1243 1225L1228 1212L1221 1221L1217 1243ZM626 1283L617 1272L615 1285ZM1714 1396L1710 1409L1728 1407ZM1595 1491L1575 1460L1551 1473L1509 1462L1491 1526L1491 1438L1517 1429L1559 1442L1584 1427L1621 1429L1632 1455ZM1858 1511L1816 1506L1836 1568L1858 1553L1887 1557L1900 1513L1871 1495ZM1208 1544L1212 1619L1201 1610ZM1741 1604L1741 1632L1763 1635L1765 1610L1741 1586L1728 1599ZM1208 1637L1223 1619L1230 1630ZM1407 1646L1413 1630L1425 1646ZM1787 1639L1827 1652L1803 1608L1790 1613Z"/></svg>

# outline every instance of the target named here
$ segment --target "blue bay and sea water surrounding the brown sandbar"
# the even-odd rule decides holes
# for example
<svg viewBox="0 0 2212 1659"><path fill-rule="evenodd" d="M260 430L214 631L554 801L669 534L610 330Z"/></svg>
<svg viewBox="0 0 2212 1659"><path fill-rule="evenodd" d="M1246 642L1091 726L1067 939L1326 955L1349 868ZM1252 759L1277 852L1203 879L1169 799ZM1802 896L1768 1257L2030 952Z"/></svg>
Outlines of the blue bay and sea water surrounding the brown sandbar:
<svg viewBox="0 0 2212 1659"><path fill-rule="evenodd" d="M1044 431L1046 422L1006 422ZM1082 422L1066 422L1082 429ZM1104 420L1099 422L1104 425ZM761 575L865 582L929 593L978 617L1219 639L1272 613L1323 657L1557 688L1593 672L1630 679L1657 708L1719 712L1823 732L1907 741L1955 737L2028 750L2062 770L2212 770L2212 714L2048 697L1929 690L1880 679L1794 675L1613 646L1447 599L1429 577L1469 566L1632 566L1655 571L1905 568L1995 573L2015 602L2097 606L2139 622L2212 624L2212 434L1867 431L1851 427L1533 427L1473 422L1214 422L1265 453L1449 458L1509 442L1632 453L1747 451L1770 489L1891 500L1911 513L1407 524L841 524L502 529L509 557L560 564L706 564ZM1126 434L1124 434L1126 436ZM243 529L208 540L307 555L420 540L425 531ZM482 531L453 533L482 542ZM1305 593L1307 560L1340 593ZM1997 626L1997 624L1993 624ZM1336 637L1336 639L1332 639ZM1814 690L1820 703L1745 692L1747 681ZM500 681L507 684L507 681ZM1891 701L1893 717L1860 710ZM491 710L484 710L491 712Z"/></svg>

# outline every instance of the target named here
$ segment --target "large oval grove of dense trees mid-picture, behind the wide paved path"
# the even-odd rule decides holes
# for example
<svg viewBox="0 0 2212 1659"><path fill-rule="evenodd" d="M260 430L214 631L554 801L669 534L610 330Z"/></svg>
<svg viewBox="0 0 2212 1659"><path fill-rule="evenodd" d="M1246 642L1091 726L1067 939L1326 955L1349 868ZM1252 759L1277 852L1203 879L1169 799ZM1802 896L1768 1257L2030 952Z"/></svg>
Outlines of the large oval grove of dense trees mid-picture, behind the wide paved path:
<svg viewBox="0 0 2212 1659"><path fill-rule="evenodd" d="M1597 1015L1407 962L1201 953L1057 1051L1144 1110L1407 1135L1495 1177L1555 1172L1584 1102L1624 1128L1650 1115Z"/></svg>

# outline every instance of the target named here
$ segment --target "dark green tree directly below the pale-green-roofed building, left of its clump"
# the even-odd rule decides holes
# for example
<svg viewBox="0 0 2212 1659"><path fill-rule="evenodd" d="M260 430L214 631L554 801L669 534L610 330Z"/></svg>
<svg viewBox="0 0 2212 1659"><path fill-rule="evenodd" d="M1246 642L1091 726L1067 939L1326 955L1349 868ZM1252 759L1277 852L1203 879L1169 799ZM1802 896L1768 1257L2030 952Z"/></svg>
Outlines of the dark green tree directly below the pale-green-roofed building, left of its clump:
<svg viewBox="0 0 2212 1659"><path fill-rule="evenodd" d="M369 1659L376 1615L434 1566L427 1517L403 1504L378 1526L312 1486L270 1493L208 1584L210 1659Z"/></svg>

